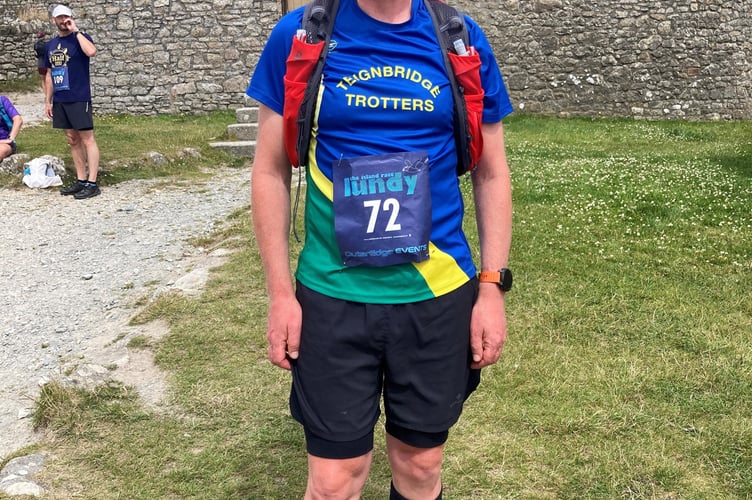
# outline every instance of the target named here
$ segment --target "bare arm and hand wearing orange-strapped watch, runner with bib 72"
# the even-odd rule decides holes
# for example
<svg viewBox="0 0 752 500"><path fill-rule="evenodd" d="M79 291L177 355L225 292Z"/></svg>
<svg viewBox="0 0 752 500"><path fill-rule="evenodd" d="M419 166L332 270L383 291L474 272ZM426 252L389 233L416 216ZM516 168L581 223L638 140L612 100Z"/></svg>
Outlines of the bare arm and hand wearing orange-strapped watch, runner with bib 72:
<svg viewBox="0 0 752 500"><path fill-rule="evenodd" d="M483 124L483 154L472 173L482 271L506 267L512 243L512 183L501 122ZM470 346L473 368L498 361L507 337L504 292L480 283L473 308Z"/></svg>

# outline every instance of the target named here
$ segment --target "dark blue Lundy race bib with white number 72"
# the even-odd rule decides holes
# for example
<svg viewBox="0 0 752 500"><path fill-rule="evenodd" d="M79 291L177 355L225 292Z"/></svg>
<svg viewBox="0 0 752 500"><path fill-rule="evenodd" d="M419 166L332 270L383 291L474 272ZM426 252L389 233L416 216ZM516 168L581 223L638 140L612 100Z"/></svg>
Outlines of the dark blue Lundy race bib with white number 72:
<svg viewBox="0 0 752 500"><path fill-rule="evenodd" d="M334 229L346 266L427 260L431 186L425 151L334 162Z"/></svg>

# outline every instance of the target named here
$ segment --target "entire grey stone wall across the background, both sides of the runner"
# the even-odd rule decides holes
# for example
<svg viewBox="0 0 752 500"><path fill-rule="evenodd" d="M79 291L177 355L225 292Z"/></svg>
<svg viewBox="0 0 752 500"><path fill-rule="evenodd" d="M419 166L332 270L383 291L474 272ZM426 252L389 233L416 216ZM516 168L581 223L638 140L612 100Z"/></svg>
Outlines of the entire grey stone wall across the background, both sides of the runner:
<svg viewBox="0 0 752 500"><path fill-rule="evenodd" d="M749 0L452 0L486 30L518 109L561 116L752 118ZM33 74L47 4L0 0L0 82ZM73 4L99 47L98 112L231 109L273 0Z"/></svg>

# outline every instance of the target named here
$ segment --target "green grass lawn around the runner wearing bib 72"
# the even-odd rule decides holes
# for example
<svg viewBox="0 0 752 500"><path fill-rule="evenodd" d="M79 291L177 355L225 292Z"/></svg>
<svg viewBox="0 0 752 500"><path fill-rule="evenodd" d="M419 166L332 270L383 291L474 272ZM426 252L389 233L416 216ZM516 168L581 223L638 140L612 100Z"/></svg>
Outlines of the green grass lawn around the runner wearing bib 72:
<svg viewBox="0 0 752 500"><path fill-rule="evenodd" d="M98 136L103 150L152 119L110 120L124 128ZM204 121L219 134L228 117L153 120L146 138L127 136L134 158L194 145ZM505 130L509 339L450 434L444 497L751 498L752 123L516 116ZM52 498L301 497L289 376L265 358L247 211L232 220L215 239L237 252L204 295L165 295L134 318L171 325L134 346L169 374L167 411L118 384L44 390L46 439L23 452L50 455ZM388 487L379 439L364 498Z"/></svg>

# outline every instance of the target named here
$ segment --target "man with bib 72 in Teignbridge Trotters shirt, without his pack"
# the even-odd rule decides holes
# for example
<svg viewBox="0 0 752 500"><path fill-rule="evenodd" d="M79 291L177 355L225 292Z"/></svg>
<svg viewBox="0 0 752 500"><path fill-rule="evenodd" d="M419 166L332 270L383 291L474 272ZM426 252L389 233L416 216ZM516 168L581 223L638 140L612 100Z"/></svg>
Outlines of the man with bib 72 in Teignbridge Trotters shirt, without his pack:
<svg viewBox="0 0 752 500"><path fill-rule="evenodd" d="M488 40L466 17L485 92L485 147L472 173L479 265L504 281L479 283L462 231L452 92L424 0L341 0L301 153L306 238L293 277L283 80L302 16L273 29L247 94L260 103L251 197L268 356L292 372L305 498L359 498L382 397L391 498L441 498L449 429L507 335L512 206L501 120L512 105Z"/></svg>

